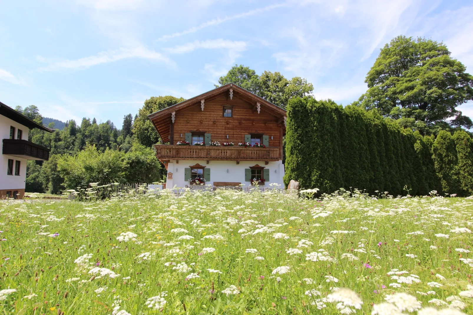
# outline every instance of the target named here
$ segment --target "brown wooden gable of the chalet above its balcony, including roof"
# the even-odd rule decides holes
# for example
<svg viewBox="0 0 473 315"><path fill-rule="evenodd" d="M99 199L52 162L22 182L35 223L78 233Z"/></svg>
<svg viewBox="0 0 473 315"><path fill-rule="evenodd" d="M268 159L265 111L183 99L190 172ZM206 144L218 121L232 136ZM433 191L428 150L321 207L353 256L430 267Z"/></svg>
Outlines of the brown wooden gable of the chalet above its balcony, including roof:
<svg viewBox="0 0 473 315"><path fill-rule="evenodd" d="M223 108L232 108L232 117ZM234 84L227 84L150 114L159 135L175 144L185 133L210 133L212 141L244 142L245 134L269 136L270 147L280 147L286 111ZM227 138L228 135L228 138Z"/></svg>

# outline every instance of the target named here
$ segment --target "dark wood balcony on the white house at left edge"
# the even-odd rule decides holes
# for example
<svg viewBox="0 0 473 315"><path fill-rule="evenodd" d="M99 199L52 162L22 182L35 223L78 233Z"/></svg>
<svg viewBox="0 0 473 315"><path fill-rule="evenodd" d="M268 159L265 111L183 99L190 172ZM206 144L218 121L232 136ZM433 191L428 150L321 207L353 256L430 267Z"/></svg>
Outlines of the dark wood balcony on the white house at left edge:
<svg viewBox="0 0 473 315"><path fill-rule="evenodd" d="M51 150L33 142L18 139L3 139L3 154L27 160L47 161Z"/></svg>

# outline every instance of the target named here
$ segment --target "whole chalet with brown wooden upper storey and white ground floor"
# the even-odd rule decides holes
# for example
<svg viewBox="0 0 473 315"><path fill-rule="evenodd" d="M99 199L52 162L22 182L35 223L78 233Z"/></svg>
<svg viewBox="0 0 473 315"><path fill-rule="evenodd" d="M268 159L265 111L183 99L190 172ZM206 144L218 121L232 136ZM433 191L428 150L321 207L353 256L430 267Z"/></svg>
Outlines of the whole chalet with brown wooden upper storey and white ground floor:
<svg viewBox="0 0 473 315"><path fill-rule="evenodd" d="M150 114L161 139L156 154L166 187L282 185L286 111L234 84ZM229 146L233 143L233 146ZM219 145L216 145L219 144Z"/></svg>

